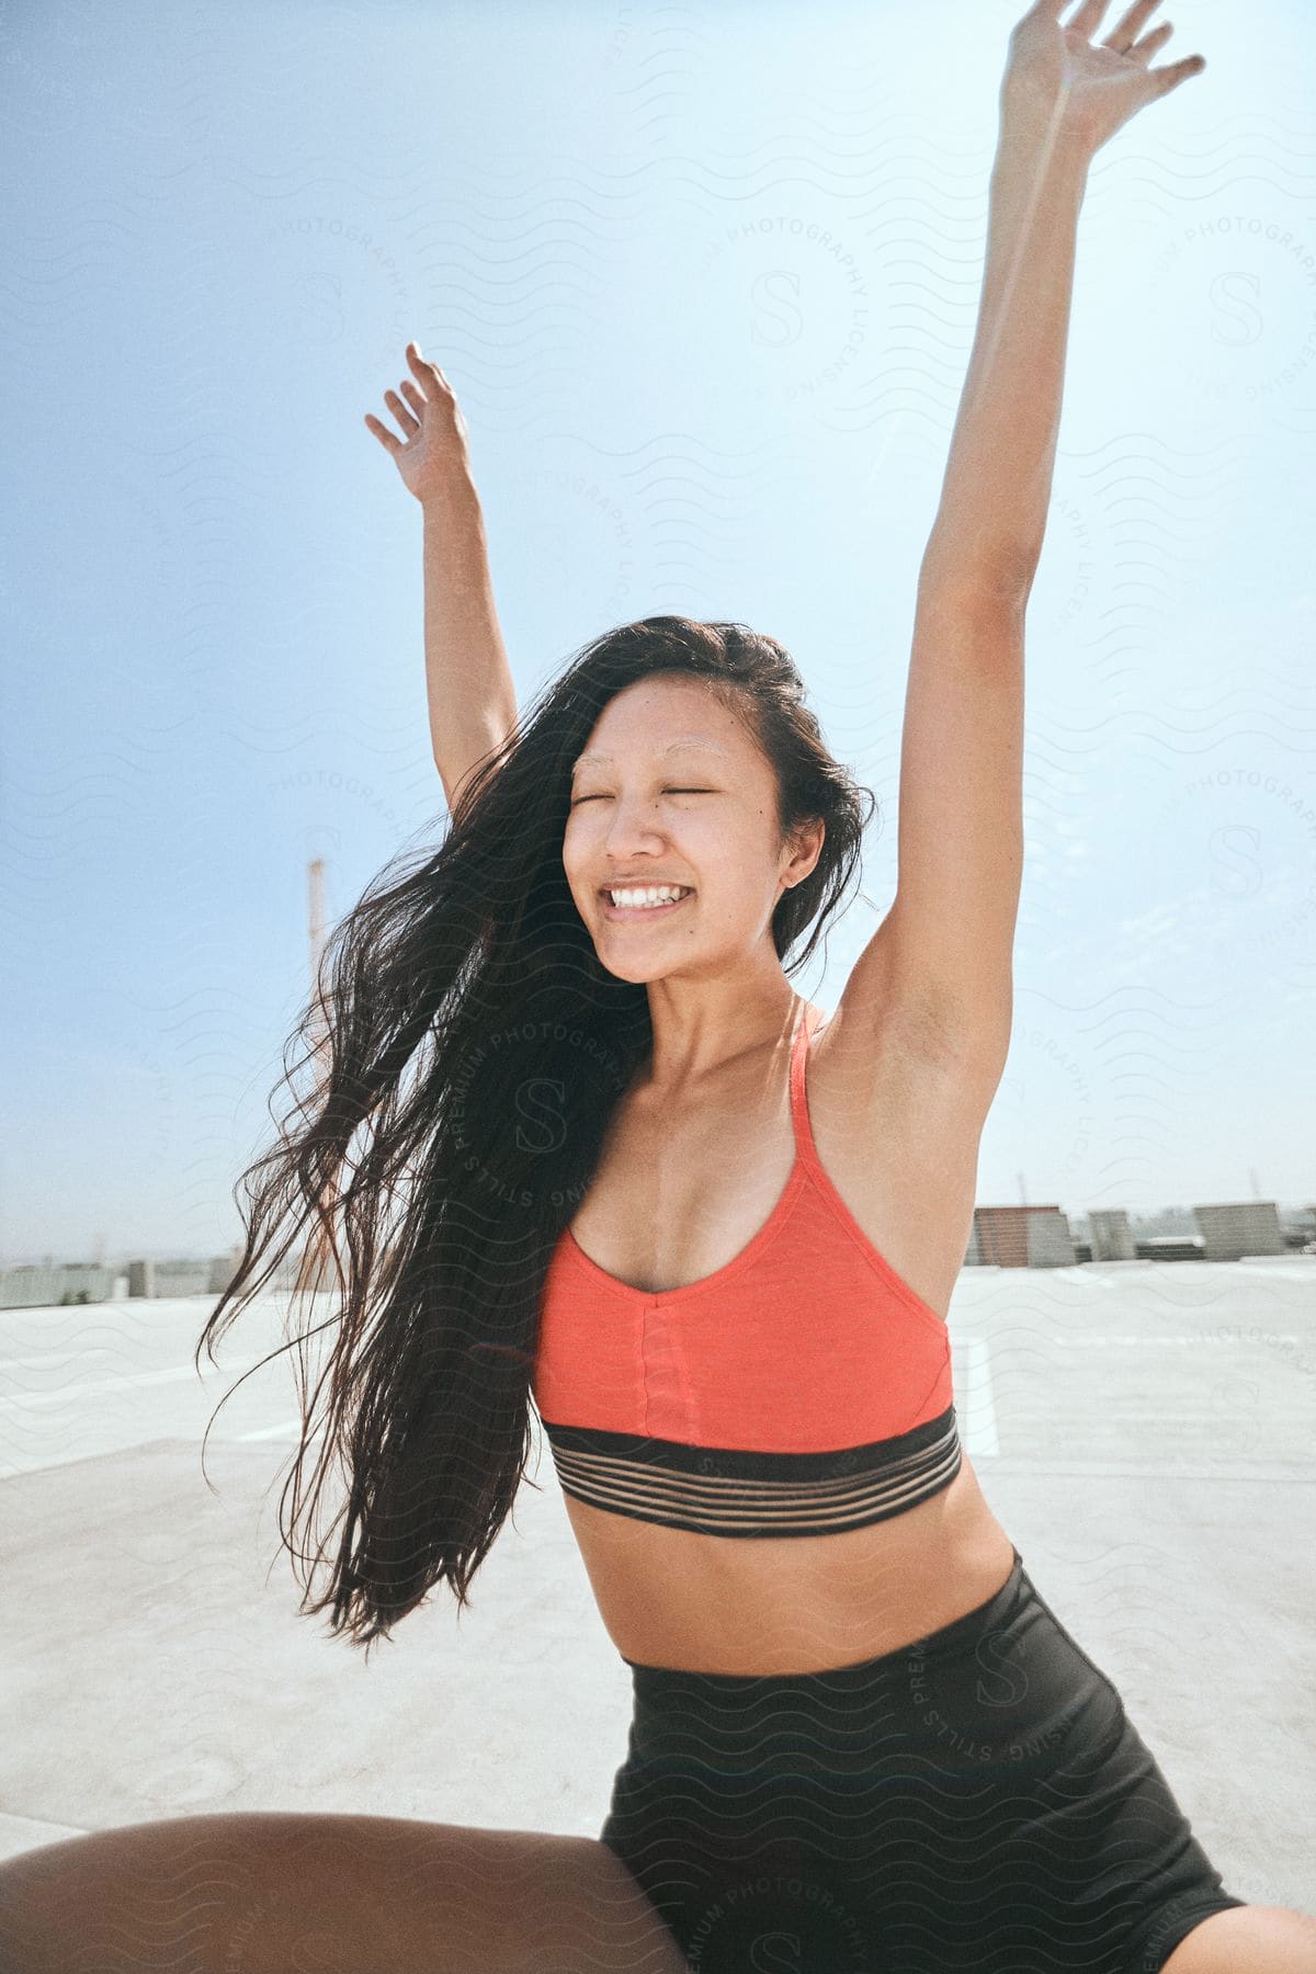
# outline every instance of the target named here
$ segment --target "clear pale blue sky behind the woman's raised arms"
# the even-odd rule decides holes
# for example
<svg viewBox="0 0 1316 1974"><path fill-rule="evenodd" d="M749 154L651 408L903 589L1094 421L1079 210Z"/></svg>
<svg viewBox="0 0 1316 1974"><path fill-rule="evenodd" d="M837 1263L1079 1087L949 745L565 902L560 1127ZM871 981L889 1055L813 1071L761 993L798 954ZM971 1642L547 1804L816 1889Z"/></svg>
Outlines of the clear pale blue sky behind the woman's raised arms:
<svg viewBox="0 0 1316 1974"><path fill-rule="evenodd" d="M412 336L523 697L655 612L795 653L880 803L835 1005L1018 12L10 14L0 1259L229 1246L308 859L337 918L444 827L420 509L361 422ZM983 1204L1316 1196L1316 24L1166 16L1207 69L1081 217Z"/></svg>

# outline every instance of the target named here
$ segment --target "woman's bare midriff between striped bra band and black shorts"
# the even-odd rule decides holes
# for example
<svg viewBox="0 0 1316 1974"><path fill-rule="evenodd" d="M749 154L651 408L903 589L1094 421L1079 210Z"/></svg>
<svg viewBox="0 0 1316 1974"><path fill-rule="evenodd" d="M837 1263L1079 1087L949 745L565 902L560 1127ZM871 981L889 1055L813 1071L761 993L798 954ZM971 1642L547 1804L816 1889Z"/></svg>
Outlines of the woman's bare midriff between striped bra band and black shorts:
<svg viewBox="0 0 1316 1974"><path fill-rule="evenodd" d="M641 1666L860 1664L975 1611L1014 1565L967 1457L931 1500L839 1536L698 1536L562 1498L604 1629Z"/></svg>

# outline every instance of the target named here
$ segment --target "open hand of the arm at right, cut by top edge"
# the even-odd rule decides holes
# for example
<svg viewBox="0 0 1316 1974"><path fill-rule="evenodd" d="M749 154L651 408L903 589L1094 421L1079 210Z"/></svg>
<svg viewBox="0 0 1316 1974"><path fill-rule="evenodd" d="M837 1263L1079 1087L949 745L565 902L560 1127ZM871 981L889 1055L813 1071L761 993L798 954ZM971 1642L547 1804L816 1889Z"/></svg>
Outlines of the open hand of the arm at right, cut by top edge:
<svg viewBox="0 0 1316 1974"><path fill-rule="evenodd" d="M1073 20L1061 26L1056 16L1063 4L1036 0L1010 34L1010 59L1000 85L1006 128L1050 128L1056 120L1091 156L1146 103L1206 69L1204 55L1186 55L1162 69L1148 67L1174 34L1170 22L1142 34L1160 0L1134 0L1097 43L1091 36L1109 0L1083 0Z"/></svg>

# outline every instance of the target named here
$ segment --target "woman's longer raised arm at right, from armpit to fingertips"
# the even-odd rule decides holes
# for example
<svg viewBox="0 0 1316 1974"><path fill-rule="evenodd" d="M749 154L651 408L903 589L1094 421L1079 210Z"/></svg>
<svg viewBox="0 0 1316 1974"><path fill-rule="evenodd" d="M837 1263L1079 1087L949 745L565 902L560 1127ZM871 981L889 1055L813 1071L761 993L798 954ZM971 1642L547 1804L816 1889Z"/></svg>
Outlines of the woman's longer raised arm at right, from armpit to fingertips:
<svg viewBox="0 0 1316 1974"><path fill-rule="evenodd" d="M860 1040L892 1026L994 1088L1010 1044L1024 823L1024 614L1052 497L1079 209L1093 154L1206 67L1152 69L1170 24L1105 0L1010 36L987 266L937 517L923 553L900 752L896 900L839 1003ZM1133 298L1131 298L1133 302Z"/></svg>

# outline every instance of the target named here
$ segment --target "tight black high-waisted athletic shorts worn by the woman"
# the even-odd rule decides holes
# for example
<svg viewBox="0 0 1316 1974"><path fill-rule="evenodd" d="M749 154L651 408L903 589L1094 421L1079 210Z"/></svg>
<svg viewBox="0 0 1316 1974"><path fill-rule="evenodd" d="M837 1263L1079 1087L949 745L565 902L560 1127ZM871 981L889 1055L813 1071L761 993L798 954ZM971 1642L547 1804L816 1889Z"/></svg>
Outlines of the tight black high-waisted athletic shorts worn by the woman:
<svg viewBox="0 0 1316 1974"><path fill-rule="evenodd" d="M1221 1885L1032 1585L856 1666L631 1666L600 1832L693 1974L1158 1974Z"/></svg>

